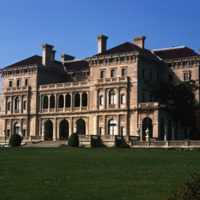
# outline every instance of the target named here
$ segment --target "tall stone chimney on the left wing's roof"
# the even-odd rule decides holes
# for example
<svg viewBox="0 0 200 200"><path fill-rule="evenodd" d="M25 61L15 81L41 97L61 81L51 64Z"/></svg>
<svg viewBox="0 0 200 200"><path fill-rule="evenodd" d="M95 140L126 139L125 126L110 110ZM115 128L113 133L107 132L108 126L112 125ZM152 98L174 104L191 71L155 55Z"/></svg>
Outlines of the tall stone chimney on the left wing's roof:
<svg viewBox="0 0 200 200"><path fill-rule="evenodd" d="M55 53L52 53L53 47L49 44L42 44L42 64L46 67L52 66L52 55L55 55Z"/></svg>

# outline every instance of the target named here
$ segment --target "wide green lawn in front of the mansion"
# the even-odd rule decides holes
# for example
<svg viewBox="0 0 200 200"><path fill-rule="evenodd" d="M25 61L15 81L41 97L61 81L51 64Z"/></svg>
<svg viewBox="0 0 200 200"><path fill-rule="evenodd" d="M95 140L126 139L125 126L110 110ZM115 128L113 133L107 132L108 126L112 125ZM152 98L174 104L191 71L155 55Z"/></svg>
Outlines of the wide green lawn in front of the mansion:
<svg viewBox="0 0 200 200"><path fill-rule="evenodd" d="M162 200L193 172L200 151L0 148L0 200Z"/></svg>

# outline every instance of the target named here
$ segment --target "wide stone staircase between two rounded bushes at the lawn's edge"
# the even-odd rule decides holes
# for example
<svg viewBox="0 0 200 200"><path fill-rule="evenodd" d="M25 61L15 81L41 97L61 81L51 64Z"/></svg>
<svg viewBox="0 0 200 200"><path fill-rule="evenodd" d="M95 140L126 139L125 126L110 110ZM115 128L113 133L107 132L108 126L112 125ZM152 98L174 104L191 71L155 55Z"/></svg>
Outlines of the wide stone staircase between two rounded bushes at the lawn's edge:
<svg viewBox="0 0 200 200"><path fill-rule="evenodd" d="M37 141L37 142L26 142L23 147L65 147L67 146L67 140L59 141Z"/></svg>

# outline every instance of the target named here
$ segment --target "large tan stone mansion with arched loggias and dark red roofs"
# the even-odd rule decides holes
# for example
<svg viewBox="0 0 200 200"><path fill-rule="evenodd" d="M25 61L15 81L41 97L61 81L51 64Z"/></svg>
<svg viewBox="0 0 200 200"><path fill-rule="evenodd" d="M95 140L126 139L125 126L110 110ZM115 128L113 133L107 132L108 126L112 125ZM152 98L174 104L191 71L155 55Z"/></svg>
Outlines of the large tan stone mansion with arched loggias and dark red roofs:
<svg viewBox="0 0 200 200"><path fill-rule="evenodd" d="M199 85L200 55L185 46L145 49L144 36L107 50L107 39L97 35L98 54L85 59L61 54L57 61L54 47L42 44L42 57L1 69L1 140L14 133L24 140L64 140L73 132L140 141L188 138L189 128L173 121L152 86ZM199 90L195 98L199 102Z"/></svg>

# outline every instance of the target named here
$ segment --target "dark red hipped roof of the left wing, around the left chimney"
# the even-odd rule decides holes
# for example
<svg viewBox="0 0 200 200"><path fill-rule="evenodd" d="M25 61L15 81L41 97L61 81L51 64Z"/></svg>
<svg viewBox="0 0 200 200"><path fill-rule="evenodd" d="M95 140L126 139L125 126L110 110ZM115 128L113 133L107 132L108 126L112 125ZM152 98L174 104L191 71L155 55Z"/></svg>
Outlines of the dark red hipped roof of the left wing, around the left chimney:
<svg viewBox="0 0 200 200"><path fill-rule="evenodd" d="M9 66L5 67L4 69L14 68L14 67L25 67L27 65L41 65L41 64L42 64L42 57L38 56L38 55L34 55L34 56L24 59L20 62L9 65ZM57 70L64 71L62 62L55 60L52 62L52 67Z"/></svg>

